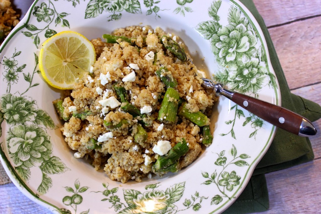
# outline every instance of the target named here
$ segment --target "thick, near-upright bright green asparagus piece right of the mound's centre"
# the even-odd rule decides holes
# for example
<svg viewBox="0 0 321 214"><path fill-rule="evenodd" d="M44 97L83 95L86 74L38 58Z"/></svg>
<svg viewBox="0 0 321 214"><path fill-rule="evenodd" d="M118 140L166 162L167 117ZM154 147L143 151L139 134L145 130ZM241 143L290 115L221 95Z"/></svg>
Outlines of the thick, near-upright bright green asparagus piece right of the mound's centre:
<svg viewBox="0 0 321 214"><path fill-rule="evenodd" d="M175 122L178 109L179 93L173 88L168 88L161 102L158 120L165 123Z"/></svg>

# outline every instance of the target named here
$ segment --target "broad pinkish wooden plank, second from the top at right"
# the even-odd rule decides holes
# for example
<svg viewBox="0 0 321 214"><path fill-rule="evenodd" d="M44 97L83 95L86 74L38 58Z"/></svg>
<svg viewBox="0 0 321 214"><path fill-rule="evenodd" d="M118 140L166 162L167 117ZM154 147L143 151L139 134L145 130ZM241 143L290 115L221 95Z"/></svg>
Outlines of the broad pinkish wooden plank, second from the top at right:
<svg viewBox="0 0 321 214"><path fill-rule="evenodd" d="M321 16L269 29L290 89L321 82L320 23Z"/></svg>

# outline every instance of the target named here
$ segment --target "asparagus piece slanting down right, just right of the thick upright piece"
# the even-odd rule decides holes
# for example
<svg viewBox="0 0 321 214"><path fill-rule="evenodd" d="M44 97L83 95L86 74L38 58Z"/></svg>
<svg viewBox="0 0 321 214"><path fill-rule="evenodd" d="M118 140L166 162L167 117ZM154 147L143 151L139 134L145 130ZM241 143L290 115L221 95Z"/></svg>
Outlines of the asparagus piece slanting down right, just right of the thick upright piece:
<svg viewBox="0 0 321 214"><path fill-rule="evenodd" d="M190 120L191 122L195 123L198 126L204 126L209 124L209 120L206 115L202 112L198 111L195 113L191 113L186 108L186 102L184 102L178 109L178 116L183 116Z"/></svg>

